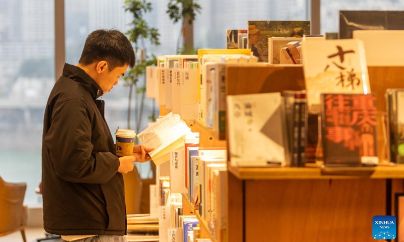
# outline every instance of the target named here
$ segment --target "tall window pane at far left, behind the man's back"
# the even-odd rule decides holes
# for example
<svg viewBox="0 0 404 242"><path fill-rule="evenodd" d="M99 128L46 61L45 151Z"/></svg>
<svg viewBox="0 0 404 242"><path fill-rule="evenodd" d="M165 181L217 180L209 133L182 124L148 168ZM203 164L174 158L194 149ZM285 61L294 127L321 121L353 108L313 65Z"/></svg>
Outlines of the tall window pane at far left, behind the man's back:
<svg viewBox="0 0 404 242"><path fill-rule="evenodd" d="M0 1L0 176L41 197L44 106L54 80L54 1Z"/></svg>

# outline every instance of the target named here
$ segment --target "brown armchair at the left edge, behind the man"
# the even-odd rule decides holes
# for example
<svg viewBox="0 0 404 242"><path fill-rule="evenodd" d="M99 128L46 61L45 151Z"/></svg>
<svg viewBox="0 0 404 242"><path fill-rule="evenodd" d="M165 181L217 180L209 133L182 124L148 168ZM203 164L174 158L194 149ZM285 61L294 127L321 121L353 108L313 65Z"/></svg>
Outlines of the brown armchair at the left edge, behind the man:
<svg viewBox="0 0 404 242"><path fill-rule="evenodd" d="M0 177L0 236L21 231L24 242L28 220L27 207L23 205L26 183L7 183Z"/></svg>

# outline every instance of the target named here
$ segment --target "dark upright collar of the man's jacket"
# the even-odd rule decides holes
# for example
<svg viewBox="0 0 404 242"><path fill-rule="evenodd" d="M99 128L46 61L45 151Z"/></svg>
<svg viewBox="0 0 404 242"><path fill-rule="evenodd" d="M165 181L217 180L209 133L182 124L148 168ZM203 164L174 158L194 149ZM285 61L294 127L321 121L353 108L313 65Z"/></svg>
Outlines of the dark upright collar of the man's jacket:
<svg viewBox="0 0 404 242"><path fill-rule="evenodd" d="M97 99L104 94L103 90L83 69L65 63L62 76L72 79L83 85L84 89L88 91L92 98Z"/></svg>

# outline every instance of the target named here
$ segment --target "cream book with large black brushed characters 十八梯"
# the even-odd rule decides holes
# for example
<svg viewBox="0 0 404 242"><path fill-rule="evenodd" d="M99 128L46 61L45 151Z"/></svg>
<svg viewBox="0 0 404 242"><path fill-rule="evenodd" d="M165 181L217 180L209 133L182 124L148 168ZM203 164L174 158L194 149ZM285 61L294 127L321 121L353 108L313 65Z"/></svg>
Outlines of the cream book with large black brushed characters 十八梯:
<svg viewBox="0 0 404 242"><path fill-rule="evenodd" d="M321 93L371 93L361 40L306 39L302 51L310 113L320 113Z"/></svg>

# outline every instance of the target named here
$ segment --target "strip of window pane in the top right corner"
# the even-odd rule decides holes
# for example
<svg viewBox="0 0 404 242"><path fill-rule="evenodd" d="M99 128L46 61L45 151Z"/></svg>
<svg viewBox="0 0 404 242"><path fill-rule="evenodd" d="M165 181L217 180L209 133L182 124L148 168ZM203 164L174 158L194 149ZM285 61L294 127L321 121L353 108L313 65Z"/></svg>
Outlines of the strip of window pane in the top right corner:
<svg viewBox="0 0 404 242"><path fill-rule="evenodd" d="M321 0L321 33L338 32L340 10L404 10L397 0Z"/></svg>

